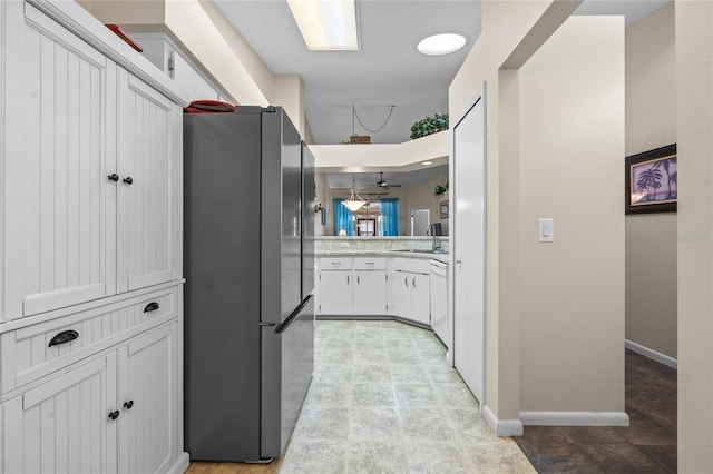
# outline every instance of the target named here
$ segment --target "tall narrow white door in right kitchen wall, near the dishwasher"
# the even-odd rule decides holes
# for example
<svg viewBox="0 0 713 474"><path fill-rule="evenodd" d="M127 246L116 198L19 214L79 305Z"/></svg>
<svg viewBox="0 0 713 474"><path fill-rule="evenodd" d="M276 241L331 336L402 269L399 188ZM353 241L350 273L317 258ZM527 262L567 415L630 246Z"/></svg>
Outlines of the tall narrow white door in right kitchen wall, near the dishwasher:
<svg viewBox="0 0 713 474"><path fill-rule="evenodd" d="M485 107L453 128L453 364L482 407L485 377Z"/></svg>

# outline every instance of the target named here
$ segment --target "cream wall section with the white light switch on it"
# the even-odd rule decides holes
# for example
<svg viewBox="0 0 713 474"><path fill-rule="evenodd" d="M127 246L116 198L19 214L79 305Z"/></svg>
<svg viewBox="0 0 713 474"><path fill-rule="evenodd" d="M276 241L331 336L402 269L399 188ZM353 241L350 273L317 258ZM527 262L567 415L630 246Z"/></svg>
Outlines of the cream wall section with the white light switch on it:
<svg viewBox="0 0 713 474"><path fill-rule="evenodd" d="M519 76L520 411L623 414L623 17L569 18Z"/></svg>

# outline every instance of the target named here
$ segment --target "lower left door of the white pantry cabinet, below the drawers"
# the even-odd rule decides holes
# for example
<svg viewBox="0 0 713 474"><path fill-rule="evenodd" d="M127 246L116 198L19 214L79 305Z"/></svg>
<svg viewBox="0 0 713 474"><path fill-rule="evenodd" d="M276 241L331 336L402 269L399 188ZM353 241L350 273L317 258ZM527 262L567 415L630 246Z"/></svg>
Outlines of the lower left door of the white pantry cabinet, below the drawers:
<svg viewBox="0 0 713 474"><path fill-rule="evenodd" d="M0 472L116 472L115 371L113 353L0 405Z"/></svg>

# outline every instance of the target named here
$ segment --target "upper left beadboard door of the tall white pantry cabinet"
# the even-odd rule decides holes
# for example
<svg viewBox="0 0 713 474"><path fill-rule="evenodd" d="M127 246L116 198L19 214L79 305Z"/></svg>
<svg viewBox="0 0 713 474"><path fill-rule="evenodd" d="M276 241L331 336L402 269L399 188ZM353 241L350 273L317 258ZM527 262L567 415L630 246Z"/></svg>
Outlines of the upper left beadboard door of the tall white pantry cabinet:
<svg viewBox="0 0 713 474"><path fill-rule="evenodd" d="M6 319L115 292L115 65L26 4L22 38L8 69L7 109L23 132L8 136ZM14 58L9 58L14 61ZM14 283L12 280L16 280Z"/></svg>

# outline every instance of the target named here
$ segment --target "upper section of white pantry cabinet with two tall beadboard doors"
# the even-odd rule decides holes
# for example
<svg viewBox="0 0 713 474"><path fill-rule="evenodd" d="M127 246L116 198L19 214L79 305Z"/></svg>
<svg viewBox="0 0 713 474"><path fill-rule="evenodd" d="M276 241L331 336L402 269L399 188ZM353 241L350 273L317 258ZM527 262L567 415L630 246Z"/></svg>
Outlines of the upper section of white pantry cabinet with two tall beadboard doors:
<svg viewBox="0 0 713 474"><path fill-rule="evenodd" d="M0 322L182 278L182 107L2 3Z"/></svg>

